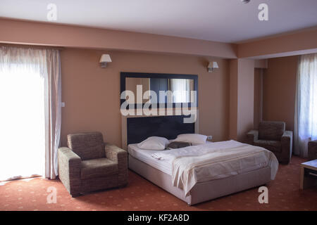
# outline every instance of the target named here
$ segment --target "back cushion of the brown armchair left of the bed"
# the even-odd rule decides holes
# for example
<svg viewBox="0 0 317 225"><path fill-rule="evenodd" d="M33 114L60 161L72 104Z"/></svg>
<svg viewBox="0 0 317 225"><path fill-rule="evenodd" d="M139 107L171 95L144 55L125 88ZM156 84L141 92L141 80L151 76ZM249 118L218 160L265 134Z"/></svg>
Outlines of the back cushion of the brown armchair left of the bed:
<svg viewBox="0 0 317 225"><path fill-rule="evenodd" d="M105 158L104 139L100 132L68 134L68 148L82 160Z"/></svg>

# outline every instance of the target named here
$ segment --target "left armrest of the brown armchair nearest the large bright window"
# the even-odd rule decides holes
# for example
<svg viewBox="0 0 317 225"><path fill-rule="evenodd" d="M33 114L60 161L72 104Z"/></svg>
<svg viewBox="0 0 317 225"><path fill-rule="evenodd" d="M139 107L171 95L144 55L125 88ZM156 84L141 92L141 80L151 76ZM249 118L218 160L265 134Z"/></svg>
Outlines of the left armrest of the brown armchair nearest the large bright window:
<svg viewBox="0 0 317 225"><path fill-rule="evenodd" d="M70 148L58 148L58 177L73 197L80 194L81 162Z"/></svg>

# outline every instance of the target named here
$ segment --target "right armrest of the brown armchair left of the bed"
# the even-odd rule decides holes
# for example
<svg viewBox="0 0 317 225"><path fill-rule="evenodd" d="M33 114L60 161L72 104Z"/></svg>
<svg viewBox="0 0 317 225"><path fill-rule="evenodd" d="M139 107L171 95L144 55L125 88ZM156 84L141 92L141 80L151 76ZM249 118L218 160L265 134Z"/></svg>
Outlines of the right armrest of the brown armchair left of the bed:
<svg viewBox="0 0 317 225"><path fill-rule="evenodd" d="M119 186L125 186L125 184L128 184L128 153L127 151L111 143L105 143L104 150L106 152L106 158L108 158L108 160L118 163Z"/></svg>

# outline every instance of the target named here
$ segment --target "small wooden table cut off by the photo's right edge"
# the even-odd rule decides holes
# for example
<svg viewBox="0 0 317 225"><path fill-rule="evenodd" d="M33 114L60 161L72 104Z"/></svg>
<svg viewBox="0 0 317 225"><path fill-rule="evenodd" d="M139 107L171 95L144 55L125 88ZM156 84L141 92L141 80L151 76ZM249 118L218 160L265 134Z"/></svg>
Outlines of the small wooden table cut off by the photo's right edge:
<svg viewBox="0 0 317 225"><path fill-rule="evenodd" d="M301 189L316 186L317 184L317 160L303 162L301 164Z"/></svg>

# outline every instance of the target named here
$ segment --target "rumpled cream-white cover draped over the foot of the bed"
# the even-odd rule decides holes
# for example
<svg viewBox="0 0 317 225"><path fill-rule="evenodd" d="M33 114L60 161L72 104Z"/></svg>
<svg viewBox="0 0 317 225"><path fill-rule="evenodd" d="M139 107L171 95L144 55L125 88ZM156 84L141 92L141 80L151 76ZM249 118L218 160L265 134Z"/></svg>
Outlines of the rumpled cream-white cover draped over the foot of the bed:
<svg viewBox="0 0 317 225"><path fill-rule="evenodd" d="M198 182L222 179L263 167L271 167L271 179L278 172L278 160L265 148L238 141L220 141L154 153L157 160L172 164L173 186L189 195Z"/></svg>

